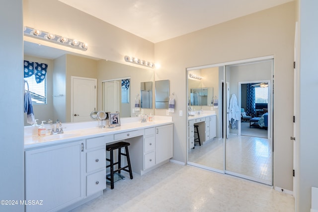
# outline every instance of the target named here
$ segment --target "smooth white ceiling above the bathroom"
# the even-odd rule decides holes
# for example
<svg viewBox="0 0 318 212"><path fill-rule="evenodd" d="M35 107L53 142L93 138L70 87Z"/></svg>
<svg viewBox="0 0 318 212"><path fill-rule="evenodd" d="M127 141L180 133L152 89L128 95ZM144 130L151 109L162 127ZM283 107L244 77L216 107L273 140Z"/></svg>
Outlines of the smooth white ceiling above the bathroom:
<svg viewBox="0 0 318 212"><path fill-rule="evenodd" d="M293 0L59 0L153 43Z"/></svg>

